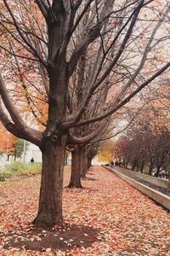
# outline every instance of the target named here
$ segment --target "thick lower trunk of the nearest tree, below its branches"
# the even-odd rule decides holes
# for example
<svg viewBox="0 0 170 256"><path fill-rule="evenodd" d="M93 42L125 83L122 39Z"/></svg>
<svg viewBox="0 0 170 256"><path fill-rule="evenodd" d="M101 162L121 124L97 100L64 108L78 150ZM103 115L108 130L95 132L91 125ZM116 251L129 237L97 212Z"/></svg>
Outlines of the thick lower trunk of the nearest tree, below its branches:
<svg viewBox="0 0 170 256"><path fill-rule="evenodd" d="M42 180L37 218L33 224L47 229L63 224L62 189L65 162L65 137L59 143L48 141L42 150Z"/></svg>

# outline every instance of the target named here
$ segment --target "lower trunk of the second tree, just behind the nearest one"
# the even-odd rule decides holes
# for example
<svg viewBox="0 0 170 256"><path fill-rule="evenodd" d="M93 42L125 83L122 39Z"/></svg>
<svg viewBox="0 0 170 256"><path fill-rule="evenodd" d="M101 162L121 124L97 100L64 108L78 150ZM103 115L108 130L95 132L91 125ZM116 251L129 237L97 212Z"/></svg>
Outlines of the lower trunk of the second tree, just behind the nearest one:
<svg viewBox="0 0 170 256"><path fill-rule="evenodd" d="M69 188L82 188L81 183L81 148L75 145L74 150L71 152L71 180L68 185Z"/></svg>

